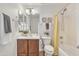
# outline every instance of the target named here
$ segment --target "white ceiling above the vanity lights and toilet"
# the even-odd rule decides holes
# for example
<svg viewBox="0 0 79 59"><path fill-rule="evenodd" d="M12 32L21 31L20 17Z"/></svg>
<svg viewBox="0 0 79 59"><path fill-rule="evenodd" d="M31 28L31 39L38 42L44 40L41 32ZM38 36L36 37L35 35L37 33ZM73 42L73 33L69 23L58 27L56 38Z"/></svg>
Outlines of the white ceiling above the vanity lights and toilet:
<svg viewBox="0 0 79 59"><path fill-rule="evenodd" d="M26 8L34 8L37 9L41 13L52 13L56 14L57 11L62 9L66 3L21 3L24 9Z"/></svg>

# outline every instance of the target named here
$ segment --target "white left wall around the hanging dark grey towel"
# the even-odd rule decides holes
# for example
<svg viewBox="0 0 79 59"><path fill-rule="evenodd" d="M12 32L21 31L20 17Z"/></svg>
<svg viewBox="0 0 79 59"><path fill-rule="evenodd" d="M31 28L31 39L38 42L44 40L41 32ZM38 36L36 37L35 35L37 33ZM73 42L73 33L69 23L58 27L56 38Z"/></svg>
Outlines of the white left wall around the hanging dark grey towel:
<svg viewBox="0 0 79 59"><path fill-rule="evenodd" d="M0 12L10 16L11 29L12 29L11 33L5 34L2 39L0 38L0 40L8 42L8 44L6 45L0 45L0 55L2 56L16 55L16 39L14 35L16 34L16 28L17 28L15 27L17 20L16 16L19 8L14 9L13 6L12 6L13 8L10 8L10 6L11 6L10 4L0 4ZM0 35L2 34L3 33L1 33Z"/></svg>

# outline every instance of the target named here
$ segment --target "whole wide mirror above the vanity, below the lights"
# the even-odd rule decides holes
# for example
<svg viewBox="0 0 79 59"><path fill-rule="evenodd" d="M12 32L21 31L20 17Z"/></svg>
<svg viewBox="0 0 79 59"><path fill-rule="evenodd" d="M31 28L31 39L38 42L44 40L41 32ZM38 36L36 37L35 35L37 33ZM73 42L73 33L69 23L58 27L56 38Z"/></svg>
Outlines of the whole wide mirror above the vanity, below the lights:
<svg viewBox="0 0 79 59"><path fill-rule="evenodd" d="M34 15L19 14L18 15L19 32L38 34L39 20L40 20L39 14L34 14Z"/></svg>

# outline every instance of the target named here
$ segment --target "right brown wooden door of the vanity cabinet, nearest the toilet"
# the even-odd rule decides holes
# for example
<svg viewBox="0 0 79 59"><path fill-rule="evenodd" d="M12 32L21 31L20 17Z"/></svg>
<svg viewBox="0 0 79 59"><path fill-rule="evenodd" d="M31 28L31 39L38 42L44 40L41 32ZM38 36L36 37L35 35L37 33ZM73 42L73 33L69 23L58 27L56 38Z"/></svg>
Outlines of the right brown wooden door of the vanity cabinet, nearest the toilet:
<svg viewBox="0 0 79 59"><path fill-rule="evenodd" d="M29 56L39 56L39 40L29 40Z"/></svg>

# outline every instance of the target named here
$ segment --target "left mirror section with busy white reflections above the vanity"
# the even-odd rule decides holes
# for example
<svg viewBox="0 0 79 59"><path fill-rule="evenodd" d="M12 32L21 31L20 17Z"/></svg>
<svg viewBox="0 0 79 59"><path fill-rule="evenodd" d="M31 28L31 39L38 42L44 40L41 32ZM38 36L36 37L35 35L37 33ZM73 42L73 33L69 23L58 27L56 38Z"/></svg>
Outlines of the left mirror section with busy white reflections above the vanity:
<svg viewBox="0 0 79 59"><path fill-rule="evenodd" d="M28 33L29 29L27 26L27 17L24 14L19 14L18 16L18 30L22 33Z"/></svg>

